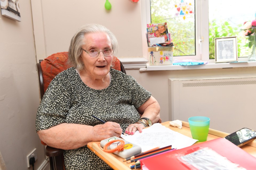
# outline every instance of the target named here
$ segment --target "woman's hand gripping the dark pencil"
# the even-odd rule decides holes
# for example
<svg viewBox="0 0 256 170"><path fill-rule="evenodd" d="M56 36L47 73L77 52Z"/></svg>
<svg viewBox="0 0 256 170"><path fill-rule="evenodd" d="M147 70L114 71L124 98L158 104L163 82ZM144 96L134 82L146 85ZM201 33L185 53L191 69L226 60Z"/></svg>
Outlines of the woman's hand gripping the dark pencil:
<svg viewBox="0 0 256 170"><path fill-rule="evenodd" d="M122 131L121 126L115 122L106 122L103 125L93 126L94 141L101 141L113 136L120 137Z"/></svg>

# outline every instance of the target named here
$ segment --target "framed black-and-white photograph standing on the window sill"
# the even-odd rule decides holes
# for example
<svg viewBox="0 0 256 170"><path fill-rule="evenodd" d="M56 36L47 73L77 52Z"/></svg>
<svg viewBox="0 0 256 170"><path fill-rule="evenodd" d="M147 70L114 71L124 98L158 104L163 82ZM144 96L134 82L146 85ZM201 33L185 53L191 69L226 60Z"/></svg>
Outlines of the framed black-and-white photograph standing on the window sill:
<svg viewBox="0 0 256 170"><path fill-rule="evenodd" d="M215 41L215 63L238 61L237 36L218 37Z"/></svg>

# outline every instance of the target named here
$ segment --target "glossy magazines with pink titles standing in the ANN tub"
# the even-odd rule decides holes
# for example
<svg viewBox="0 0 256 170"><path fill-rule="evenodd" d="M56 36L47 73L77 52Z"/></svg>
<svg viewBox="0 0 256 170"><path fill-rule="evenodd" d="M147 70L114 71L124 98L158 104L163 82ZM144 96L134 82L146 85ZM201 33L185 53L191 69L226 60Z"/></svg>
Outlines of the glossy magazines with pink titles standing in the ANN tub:
<svg viewBox="0 0 256 170"><path fill-rule="evenodd" d="M155 37L165 37L165 42L170 43L167 23L147 24L147 41L150 46L150 39Z"/></svg>

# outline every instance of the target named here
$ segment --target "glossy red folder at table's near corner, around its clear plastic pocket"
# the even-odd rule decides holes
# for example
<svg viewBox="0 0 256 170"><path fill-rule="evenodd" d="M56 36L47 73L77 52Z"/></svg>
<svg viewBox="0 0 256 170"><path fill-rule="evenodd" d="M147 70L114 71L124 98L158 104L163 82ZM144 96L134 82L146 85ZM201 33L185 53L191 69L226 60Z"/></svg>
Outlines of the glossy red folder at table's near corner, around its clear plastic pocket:
<svg viewBox="0 0 256 170"><path fill-rule="evenodd" d="M192 145L186 148L174 150L172 152L163 153L161 155L153 156L140 160L141 168L146 167L149 170L155 169L173 169L173 170L187 170L188 166L183 164L178 156L190 154L198 148L208 147L217 152L219 155L226 157L228 160L247 170L256 169L256 158L245 152L238 146L234 145L225 138L217 138L211 141L206 141Z"/></svg>

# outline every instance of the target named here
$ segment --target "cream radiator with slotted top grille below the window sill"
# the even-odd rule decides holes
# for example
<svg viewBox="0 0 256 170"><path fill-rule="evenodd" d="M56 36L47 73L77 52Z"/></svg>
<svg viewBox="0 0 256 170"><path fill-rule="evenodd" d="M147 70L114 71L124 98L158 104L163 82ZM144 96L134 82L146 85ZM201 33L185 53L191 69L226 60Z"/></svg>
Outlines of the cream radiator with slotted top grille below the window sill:
<svg viewBox="0 0 256 170"><path fill-rule="evenodd" d="M169 119L210 117L210 128L256 130L256 76L170 78Z"/></svg>

